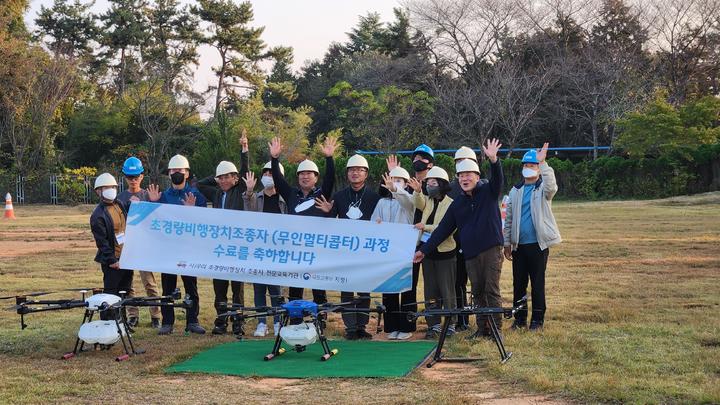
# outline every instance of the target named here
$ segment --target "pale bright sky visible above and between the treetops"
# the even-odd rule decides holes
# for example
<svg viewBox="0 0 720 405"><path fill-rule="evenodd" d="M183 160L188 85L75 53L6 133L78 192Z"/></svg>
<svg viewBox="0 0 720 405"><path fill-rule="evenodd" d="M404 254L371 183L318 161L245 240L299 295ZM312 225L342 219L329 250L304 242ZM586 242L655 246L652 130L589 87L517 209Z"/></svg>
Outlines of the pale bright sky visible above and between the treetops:
<svg viewBox="0 0 720 405"><path fill-rule="evenodd" d="M239 2L239 0L236 0ZM83 0L83 2L86 2ZM88 0L89 2L89 0ZM194 3L181 0L182 3ZM383 22L392 21L393 7L399 7L397 0L251 0L255 13L253 26L264 26L263 40L272 47L291 46L297 72L305 61L321 59L332 42L344 42L346 33L358 22L358 17L368 12L380 13ZM53 0L31 0L25 20L34 29L34 20L40 6L51 7ZM102 13L108 8L107 0L96 0L93 12ZM220 57L214 49L203 46L200 49L200 63L195 72L196 90L205 90L213 82L211 67L217 65Z"/></svg>

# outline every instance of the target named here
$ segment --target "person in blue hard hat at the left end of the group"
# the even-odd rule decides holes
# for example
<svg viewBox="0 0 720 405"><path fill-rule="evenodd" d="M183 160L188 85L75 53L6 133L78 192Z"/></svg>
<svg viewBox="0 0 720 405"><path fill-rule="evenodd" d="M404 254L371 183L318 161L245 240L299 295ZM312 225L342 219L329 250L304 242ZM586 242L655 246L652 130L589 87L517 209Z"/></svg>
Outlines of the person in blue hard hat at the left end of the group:
<svg viewBox="0 0 720 405"><path fill-rule="evenodd" d="M140 187L143 181L145 168L142 165L142 161L135 156L130 156L125 159L122 168L123 175L125 176L125 183L127 189L122 193L118 194L117 199L122 201L123 204L130 204L130 201L150 201L147 190ZM155 281L155 275L151 271L140 271L140 280L145 287L145 292L150 297L160 296L160 290L158 290L157 282ZM130 286L128 291L129 297L135 296L135 289ZM153 328L160 328L160 307L148 307L150 310L150 326ZM131 327L137 326L140 319L140 311L138 307L128 307L128 325Z"/></svg>

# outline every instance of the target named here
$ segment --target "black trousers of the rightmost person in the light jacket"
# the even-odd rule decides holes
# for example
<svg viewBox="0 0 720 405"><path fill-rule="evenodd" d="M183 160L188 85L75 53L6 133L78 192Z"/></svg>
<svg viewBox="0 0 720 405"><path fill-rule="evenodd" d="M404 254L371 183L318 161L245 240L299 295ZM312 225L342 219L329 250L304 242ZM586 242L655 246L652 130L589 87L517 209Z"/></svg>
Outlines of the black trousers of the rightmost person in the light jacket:
<svg viewBox="0 0 720 405"><path fill-rule="evenodd" d="M513 255L513 302L527 294L530 281L532 317L530 322L542 324L545 321L545 268L550 249L540 250L540 245L530 243L518 245ZM515 321L527 322L527 310L515 313Z"/></svg>

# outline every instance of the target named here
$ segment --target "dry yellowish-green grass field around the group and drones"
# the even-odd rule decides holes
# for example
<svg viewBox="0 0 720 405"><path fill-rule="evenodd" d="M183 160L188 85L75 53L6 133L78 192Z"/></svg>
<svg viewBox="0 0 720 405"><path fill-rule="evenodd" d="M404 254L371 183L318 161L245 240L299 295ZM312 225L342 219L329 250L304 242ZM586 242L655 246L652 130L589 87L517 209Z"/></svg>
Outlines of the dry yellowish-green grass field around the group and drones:
<svg viewBox="0 0 720 405"><path fill-rule="evenodd" d="M17 220L0 221L0 296L101 285L91 208L16 207ZM720 194L554 209L565 241L550 254L545 330L513 332L506 323L514 356L505 365L490 342L453 338L453 355L486 360L402 379L167 375L164 367L233 338L158 337L141 312L136 342L147 354L115 363L114 348L61 361L80 311L36 314L24 331L0 311L0 403L720 403ZM209 328L211 282L200 288ZM502 291L509 302L507 262Z"/></svg>

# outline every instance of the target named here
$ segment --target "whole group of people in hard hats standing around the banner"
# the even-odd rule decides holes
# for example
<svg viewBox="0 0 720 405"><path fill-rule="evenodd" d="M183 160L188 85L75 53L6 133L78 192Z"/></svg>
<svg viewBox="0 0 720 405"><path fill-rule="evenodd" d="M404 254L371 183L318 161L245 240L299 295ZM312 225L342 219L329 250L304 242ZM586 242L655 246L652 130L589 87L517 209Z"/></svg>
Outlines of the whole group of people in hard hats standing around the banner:
<svg viewBox="0 0 720 405"><path fill-rule="evenodd" d="M502 146L498 140L488 140L482 147L489 161L487 179L481 176L478 157L468 147L461 147L455 153L455 175L450 175L435 166L435 153L427 145L418 146L412 153L412 170L401 167L397 157L387 158L388 172L382 176L379 189L368 185L369 165L361 155L350 157L345 166L348 186L333 193L335 188L335 161L333 155L337 141L328 137L321 149L325 156L325 173L320 181L320 170L312 160L304 160L297 167L297 186L292 186L285 177L280 163L283 145L279 138L268 144L270 161L260 173L258 183L249 169L249 148L245 130L240 138L242 147L241 167L222 161L217 165L214 176L197 180L191 185L190 164L182 155L173 156L167 168L171 186L160 191L151 184L142 189L142 162L136 157L128 158L122 168L127 189L117 193L117 182L109 173L103 173L95 181L95 191L100 203L93 211L90 225L98 247L95 260L100 263L103 273L103 287L106 293L118 294L127 291L134 295L132 288L133 271L120 269L124 232L129 205L134 201L150 201L162 204L193 205L207 207L212 203L215 209L246 210L280 215L306 215L323 218L341 218L354 221L394 222L413 225L418 230L418 241L413 259L412 288L401 294L383 294L382 300L387 312L384 329L388 339L406 340L416 331L416 322L408 319L403 312L417 311L417 285L422 270L423 302L426 307L453 309L468 305L467 282L470 281L472 303L483 307L500 307L500 272L504 259L512 261L513 301L521 299L531 287L532 315L530 330L543 327L545 316L545 269L549 248L561 241L557 224L552 213L552 198L557 192L553 169L545 161L548 144L539 150L528 151L522 159L523 181L509 191L507 214L501 221L499 199L504 178L498 158ZM380 180L380 179L378 179ZM148 295L171 294L177 286L177 275L161 274L161 291L152 272L140 272ZM198 321L200 297L197 278L181 276L185 293L192 301L187 312L186 331L204 334L205 329ZM212 329L213 334L228 332L243 335L241 319L219 316L228 302L244 305L244 285L239 281L213 280L215 309L218 317ZM280 305L285 297L282 287L254 284L254 305ZM303 288L290 287L289 300L302 299ZM317 304L327 302L327 292L312 290L312 299ZM342 291L340 299L350 302L356 308L370 307L370 294ZM172 307L151 310L151 325L158 333L173 333L175 323ZM527 311L515 314L513 329L528 328ZM136 308L128 310L130 326L138 324ZM343 313L345 338L371 339L366 331L369 315L362 312ZM429 317L425 337L432 339L440 333L441 319ZM280 329L280 319L273 319L275 334ZM487 317L478 317L477 331L469 336L474 339L490 336ZM501 318L495 322L500 326ZM448 334L469 329L469 319L454 319ZM258 318L254 336L269 333L267 320Z"/></svg>

